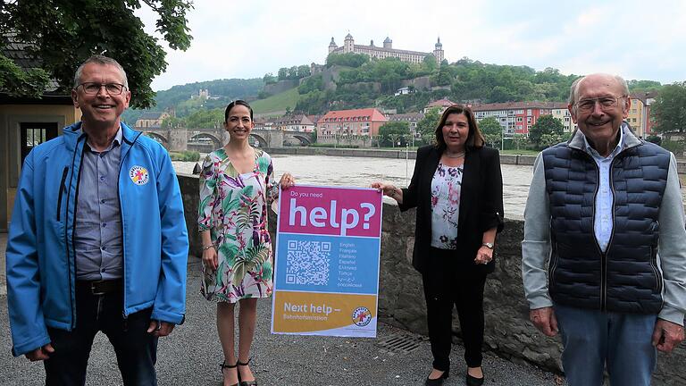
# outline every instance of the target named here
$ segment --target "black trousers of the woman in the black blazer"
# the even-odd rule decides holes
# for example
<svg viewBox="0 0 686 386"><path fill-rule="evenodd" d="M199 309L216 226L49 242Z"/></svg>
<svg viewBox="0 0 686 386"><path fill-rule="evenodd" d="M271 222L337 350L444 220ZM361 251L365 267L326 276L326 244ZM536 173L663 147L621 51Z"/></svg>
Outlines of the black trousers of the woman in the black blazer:
<svg viewBox="0 0 686 386"><path fill-rule="evenodd" d="M483 344L483 286L486 273L473 261L459 261L454 252L431 248L431 263L422 274L433 367L448 371L452 348L453 306L457 308L464 341L464 361L481 366Z"/></svg>

